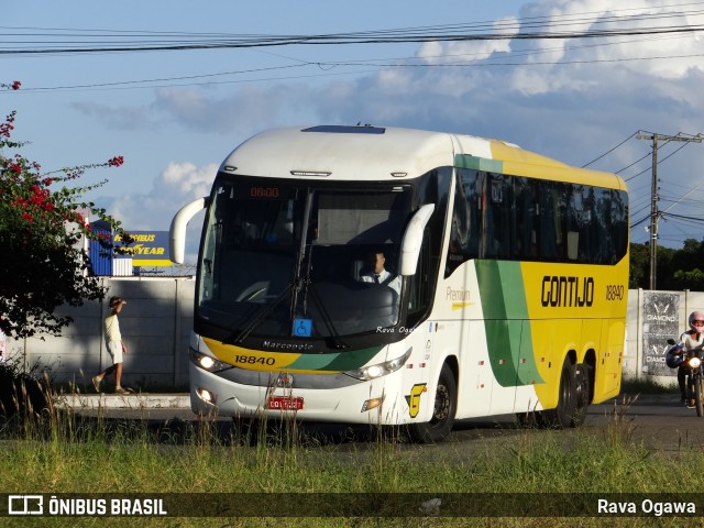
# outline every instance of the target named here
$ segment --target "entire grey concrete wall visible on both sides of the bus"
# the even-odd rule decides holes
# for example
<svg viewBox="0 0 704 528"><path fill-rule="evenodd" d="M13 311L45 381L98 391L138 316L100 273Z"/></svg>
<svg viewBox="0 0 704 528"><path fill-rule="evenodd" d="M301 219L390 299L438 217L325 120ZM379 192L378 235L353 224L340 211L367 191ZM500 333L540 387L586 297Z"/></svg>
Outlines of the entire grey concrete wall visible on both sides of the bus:
<svg viewBox="0 0 704 528"><path fill-rule="evenodd" d="M120 314L120 328L129 348L124 360L124 383L142 387L185 387L188 384L188 341L193 323L193 278L103 278L108 297L128 299ZM667 339L678 339L688 329L693 310L704 311L701 292L628 293L628 321L624 376L676 383L675 371L664 366ZM107 300L68 308L63 314L75 322L59 338L8 340L9 356L26 369L48 367L57 382L89 387L90 377L110 365L102 320Z"/></svg>

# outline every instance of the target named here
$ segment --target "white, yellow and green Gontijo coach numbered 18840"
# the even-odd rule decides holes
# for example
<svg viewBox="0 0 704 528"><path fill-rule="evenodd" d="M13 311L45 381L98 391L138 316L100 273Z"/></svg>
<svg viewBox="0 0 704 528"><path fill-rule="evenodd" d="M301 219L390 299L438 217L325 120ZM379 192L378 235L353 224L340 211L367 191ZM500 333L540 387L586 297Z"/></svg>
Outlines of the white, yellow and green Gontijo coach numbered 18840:
<svg viewBox="0 0 704 528"><path fill-rule="evenodd" d="M628 195L614 174L504 141L284 128L224 160L190 339L198 414L400 426L515 414L576 427L618 395ZM391 280L366 282L378 263Z"/></svg>

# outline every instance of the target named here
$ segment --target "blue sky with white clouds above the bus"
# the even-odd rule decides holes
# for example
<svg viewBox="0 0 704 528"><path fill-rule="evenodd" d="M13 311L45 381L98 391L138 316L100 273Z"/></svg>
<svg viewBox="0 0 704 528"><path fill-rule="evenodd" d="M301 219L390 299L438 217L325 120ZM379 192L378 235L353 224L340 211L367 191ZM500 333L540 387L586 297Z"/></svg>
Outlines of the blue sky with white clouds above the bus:
<svg viewBox="0 0 704 528"><path fill-rule="evenodd" d="M0 91L0 112L16 110L13 139L29 142L23 154L47 172L122 155L122 167L81 183L108 178L87 199L132 231L168 230L257 132L362 122L495 138L618 173L630 191L631 242L645 243L652 142L638 135L704 133L704 1L106 6L3 4L0 82L22 89ZM282 38L342 33L355 37ZM376 42L360 42L362 33ZM492 38L466 38L477 34ZM193 48L216 40L241 44ZM144 50L157 42L184 45ZM704 239L704 143L663 140L658 157L658 243ZM191 260L201 221L191 222Z"/></svg>

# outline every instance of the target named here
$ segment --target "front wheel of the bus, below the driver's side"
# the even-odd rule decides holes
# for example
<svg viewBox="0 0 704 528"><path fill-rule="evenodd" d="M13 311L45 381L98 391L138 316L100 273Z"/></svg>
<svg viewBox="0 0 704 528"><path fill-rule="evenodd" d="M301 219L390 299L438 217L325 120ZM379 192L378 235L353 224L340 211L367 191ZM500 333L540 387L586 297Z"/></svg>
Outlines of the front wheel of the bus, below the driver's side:
<svg viewBox="0 0 704 528"><path fill-rule="evenodd" d="M426 424L411 425L409 429L411 438L421 443L435 443L446 440L452 431L457 407L458 385L452 370L444 364L438 378L432 418Z"/></svg>

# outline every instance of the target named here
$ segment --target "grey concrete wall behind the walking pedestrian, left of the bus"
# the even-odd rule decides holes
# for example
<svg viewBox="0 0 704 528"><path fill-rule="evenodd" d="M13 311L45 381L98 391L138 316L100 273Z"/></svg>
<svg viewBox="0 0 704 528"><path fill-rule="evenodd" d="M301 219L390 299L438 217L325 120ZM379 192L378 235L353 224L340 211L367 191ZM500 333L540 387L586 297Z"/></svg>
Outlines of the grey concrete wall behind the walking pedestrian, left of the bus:
<svg viewBox="0 0 704 528"><path fill-rule="evenodd" d="M123 383L142 387L185 387L188 384L188 341L193 324L195 280L187 277L101 278L128 300L120 314L120 330L128 345ZM63 308L74 323L62 337L8 340L9 356L25 365L48 367L53 380L90 386L90 377L112 362L106 350L103 318L108 298L79 308ZM109 381L109 384L112 380ZM110 385L108 385L110 386Z"/></svg>

